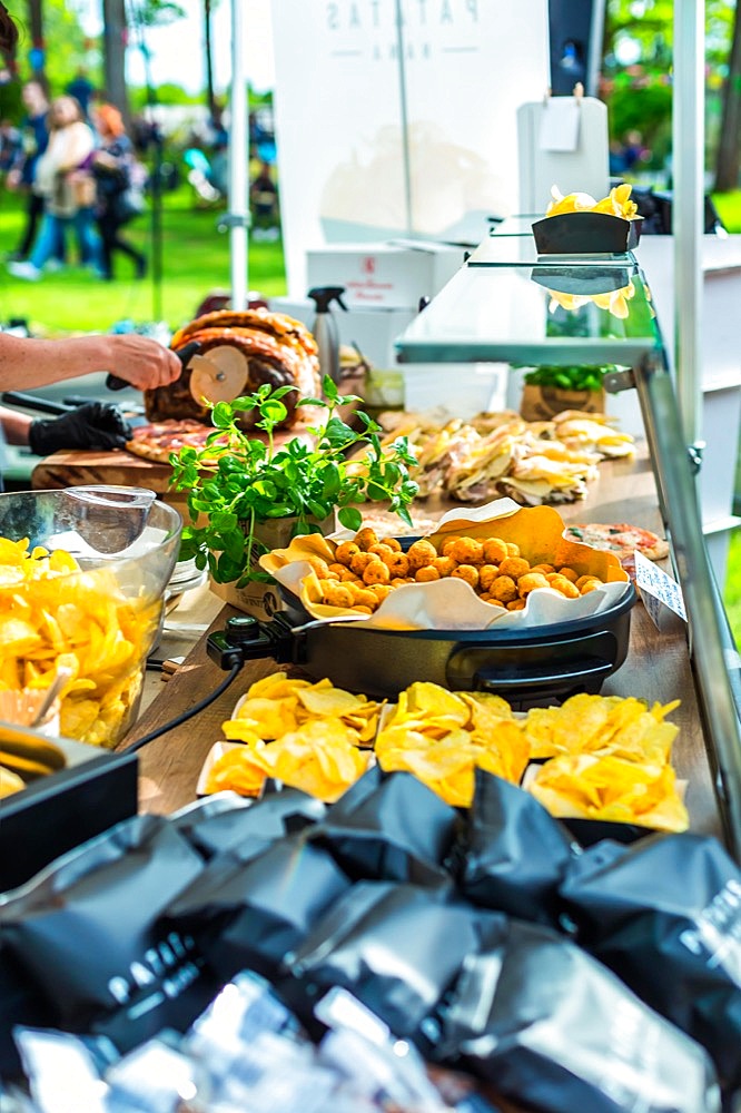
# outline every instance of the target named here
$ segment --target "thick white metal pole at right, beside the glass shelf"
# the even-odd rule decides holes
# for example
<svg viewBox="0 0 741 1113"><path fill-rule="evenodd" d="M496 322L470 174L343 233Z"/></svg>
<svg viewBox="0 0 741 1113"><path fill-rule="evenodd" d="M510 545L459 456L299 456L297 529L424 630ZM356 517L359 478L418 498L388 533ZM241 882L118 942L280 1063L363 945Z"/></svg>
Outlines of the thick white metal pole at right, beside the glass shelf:
<svg viewBox="0 0 741 1113"><path fill-rule="evenodd" d="M674 4L672 177L676 395L688 445L702 432L704 0Z"/></svg>

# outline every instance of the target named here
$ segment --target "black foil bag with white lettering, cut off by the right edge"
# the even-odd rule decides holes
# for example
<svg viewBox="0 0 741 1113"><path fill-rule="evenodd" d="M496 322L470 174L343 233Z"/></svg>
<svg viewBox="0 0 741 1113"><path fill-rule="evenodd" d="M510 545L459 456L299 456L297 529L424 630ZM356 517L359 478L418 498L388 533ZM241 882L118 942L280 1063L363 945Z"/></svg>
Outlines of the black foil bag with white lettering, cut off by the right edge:
<svg viewBox="0 0 741 1113"><path fill-rule="evenodd" d="M741 1085L741 870L713 838L600 844L561 887L580 943Z"/></svg>

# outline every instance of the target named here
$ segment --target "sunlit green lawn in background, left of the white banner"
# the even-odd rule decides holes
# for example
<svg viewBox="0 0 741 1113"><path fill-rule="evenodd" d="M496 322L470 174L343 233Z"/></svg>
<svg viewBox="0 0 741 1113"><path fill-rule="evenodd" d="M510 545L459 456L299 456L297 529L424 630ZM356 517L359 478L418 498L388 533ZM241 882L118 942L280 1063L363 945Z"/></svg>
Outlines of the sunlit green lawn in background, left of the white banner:
<svg viewBox="0 0 741 1113"><path fill-rule="evenodd" d="M162 282L159 295L150 277L136 282L132 264L117 259L117 280L101 282L77 266L45 275L38 283L21 282L0 262L0 321L22 317L37 333L106 331L117 321L137 324L165 321L171 328L190 321L204 297L230 288L229 235L217 229L223 213L197 209L189 187L166 194L162 211ZM19 237L18 198L0 197L0 244L10 249ZM128 228L129 238L151 258L148 215ZM249 288L264 295L286 293L280 243L251 243L248 252Z"/></svg>

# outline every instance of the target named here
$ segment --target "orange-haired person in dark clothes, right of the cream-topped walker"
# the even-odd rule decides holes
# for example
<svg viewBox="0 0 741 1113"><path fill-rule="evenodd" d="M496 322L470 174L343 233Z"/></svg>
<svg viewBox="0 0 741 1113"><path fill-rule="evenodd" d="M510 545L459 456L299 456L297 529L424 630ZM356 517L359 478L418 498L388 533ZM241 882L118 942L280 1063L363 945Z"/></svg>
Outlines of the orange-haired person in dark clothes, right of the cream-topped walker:
<svg viewBox="0 0 741 1113"><path fill-rule="evenodd" d="M102 245L102 277L113 278L113 256L120 252L134 260L136 277L144 278L146 257L121 236L121 228L137 215L128 204L136 167L134 145L126 134L121 114L112 105L93 107L92 121L99 137L99 146L92 155L92 174L97 183L96 216Z"/></svg>

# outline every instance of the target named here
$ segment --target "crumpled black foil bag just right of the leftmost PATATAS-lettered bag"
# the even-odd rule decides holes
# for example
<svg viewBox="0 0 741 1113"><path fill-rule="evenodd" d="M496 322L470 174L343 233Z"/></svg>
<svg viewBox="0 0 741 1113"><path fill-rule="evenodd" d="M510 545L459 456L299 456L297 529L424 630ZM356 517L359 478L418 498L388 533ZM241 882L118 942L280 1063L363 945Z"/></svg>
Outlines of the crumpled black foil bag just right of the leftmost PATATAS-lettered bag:
<svg viewBox="0 0 741 1113"><path fill-rule="evenodd" d="M349 884L334 858L299 834L246 863L231 851L214 858L165 919L197 939L225 981L245 968L270 976Z"/></svg>

